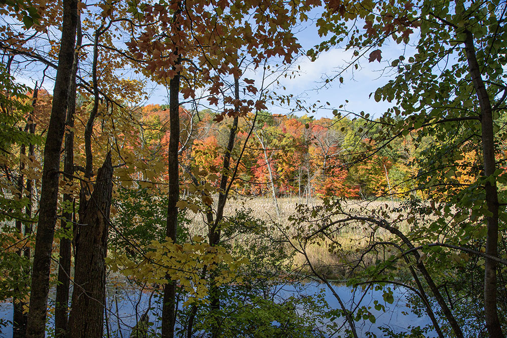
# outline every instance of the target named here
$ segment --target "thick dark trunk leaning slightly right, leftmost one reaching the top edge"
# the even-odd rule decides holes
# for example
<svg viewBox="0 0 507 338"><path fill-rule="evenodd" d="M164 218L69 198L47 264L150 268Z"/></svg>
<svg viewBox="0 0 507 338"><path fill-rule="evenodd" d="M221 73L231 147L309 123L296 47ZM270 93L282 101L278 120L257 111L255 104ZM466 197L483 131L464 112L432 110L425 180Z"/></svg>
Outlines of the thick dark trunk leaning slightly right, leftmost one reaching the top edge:
<svg viewBox="0 0 507 338"><path fill-rule="evenodd" d="M39 224L35 238L30 310L26 328L28 338L44 338L46 333L49 274L58 200L60 149L65 130L65 112L74 61L77 21L77 0L63 0L62 38L58 54L58 69L53 90L51 119L44 147Z"/></svg>

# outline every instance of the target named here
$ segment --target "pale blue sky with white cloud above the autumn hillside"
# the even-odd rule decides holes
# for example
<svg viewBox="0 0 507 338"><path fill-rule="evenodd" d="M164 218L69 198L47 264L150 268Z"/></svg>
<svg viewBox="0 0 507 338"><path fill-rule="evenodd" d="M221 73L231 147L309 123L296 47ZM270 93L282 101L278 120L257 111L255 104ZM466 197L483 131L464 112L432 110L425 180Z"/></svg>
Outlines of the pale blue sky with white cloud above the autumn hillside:
<svg viewBox="0 0 507 338"><path fill-rule="evenodd" d="M306 51L320 41L317 33L317 28L309 24L305 29L297 33L299 43L302 45L303 50ZM292 79L280 78L279 86L271 86L270 90L275 91L277 94L293 94L295 97L302 98L306 102L306 106L320 101L318 106L326 105L327 109L318 109L315 113L306 111L294 111L295 115L314 116L318 119L321 117L333 117L333 109L344 105L348 111L359 114L361 111L370 114L371 116L380 116L382 113L392 105L387 102L375 102L371 93L382 85L386 84L392 77L391 73L386 73L384 68L390 62L404 54L404 46L392 43L392 46L384 45L382 49L382 61L368 62L368 54L364 60L360 61L360 66L357 70L347 70L342 76L344 83L340 84L338 79L333 83L325 84L325 78L332 77L339 69L347 65L352 60L352 50L344 50L342 48L334 48L329 51L324 51L319 54L316 61L312 62L306 55L299 56L292 69L300 70L297 75ZM257 72L248 71L244 74L245 77L256 80L256 86L259 88L262 81L262 69ZM285 87L285 90L282 89ZM346 102L348 100L348 103ZM167 90L161 87L155 87L147 101L147 103L162 104L168 102ZM293 100L294 102L294 100ZM274 105L268 102L268 110L273 114L289 114L295 108L291 102L291 106L280 105L275 102ZM327 105L329 102L330 105ZM201 100L202 108L205 108L205 100ZM187 108L191 108L190 106ZM216 107L211 107L216 109Z"/></svg>

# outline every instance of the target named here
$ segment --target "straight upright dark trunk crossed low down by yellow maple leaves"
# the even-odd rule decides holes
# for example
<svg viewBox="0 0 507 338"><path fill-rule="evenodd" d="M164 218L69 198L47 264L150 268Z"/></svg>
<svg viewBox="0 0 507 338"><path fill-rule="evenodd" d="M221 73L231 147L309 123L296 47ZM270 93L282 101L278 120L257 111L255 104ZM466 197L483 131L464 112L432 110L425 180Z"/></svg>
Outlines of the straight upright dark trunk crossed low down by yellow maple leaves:
<svg viewBox="0 0 507 338"><path fill-rule="evenodd" d="M179 11L179 7L178 7ZM175 14L176 15L176 14ZM177 50L175 54L177 55ZM179 64L179 56L176 64ZM179 72L169 83L169 192L167 202L167 226L166 236L176 243L176 228L178 222L178 208L176 203L179 200ZM169 280L169 279L168 279ZM174 336L174 324L176 322L176 283L169 280L164 285L164 305L162 307L162 337L172 338Z"/></svg>

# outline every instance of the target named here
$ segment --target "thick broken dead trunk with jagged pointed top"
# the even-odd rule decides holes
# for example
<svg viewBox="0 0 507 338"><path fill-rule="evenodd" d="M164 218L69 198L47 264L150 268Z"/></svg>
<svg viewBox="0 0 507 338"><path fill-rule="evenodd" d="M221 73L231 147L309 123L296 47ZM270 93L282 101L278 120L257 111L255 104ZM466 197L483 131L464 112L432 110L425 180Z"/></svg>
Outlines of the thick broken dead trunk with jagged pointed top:
<svg viewBox="0 0 507 338"><path fill-rule="evenodd" d="M74 291L69 336L101 337L105 304L105 256L113 190L111 153L98 170L84 219L76 234Z"/></svg>

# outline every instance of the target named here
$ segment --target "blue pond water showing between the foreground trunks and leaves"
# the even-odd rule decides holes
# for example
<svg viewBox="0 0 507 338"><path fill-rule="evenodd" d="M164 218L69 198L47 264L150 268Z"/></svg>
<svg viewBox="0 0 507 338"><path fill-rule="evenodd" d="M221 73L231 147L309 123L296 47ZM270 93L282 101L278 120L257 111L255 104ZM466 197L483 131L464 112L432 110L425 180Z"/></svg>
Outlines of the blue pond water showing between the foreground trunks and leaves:
<svg viewBox="0 0 507 338"><path fill-rule="evenodd" d="M410 306L409 297L412 296L411 291L404 288L398 287L393 288L392 304L384 301L382 290L368 289L363 291L362 289L352 289L344 285L333 285L335 292L340 296L343 302L346 302L348 309L352 309L356 306L371 307L369 311L375 316L375 323L370 320L360 319L356 322L356 329L359 337L368 337L367 332L376 334L377 337L384 337L386 335L382 327L388 327L392 332L404 332L410 330L411 327L415 326L431 326L431 321L426 314L423 316L416 315ZM276 295L278 299L286 299L289 296L313 296L320 293L325 302L328 303L329 307L333 309L339 309L340 306L335 296L331 292L328 286L325 284L319 284L317 282L310 282L305 284L279 284L272 288L272 294ZM108 328L111 337L128 338L131 332L131 328L136 324L136 309L137 318L148 308L150 293L146 292L135 292L133 290L125 292L115 288L108 289L108 304L107 312L108 316ZM379 304L385 307L385 311L376 310L374 302L378 301ZM154 322L154 326L157 327L160 317L160 301L156 295L152 297L151 306L155 309L150 313L150 321ZM308 315L308 314L306 314ZM320 323L329 323L334 320L338 323L338 326L344 322L343 317L338 318L323 318L321 314L312 314L316 321ZM318 320L317 320L318 319ZM0 303L0 323L9 321L7 326L0 327L1 338L12 337L12 304ZM52 330L53 326L52 318L49 317L49 325ZM432 326L431 326L432 327ZM327 332L328 337L339 337L340 333L344 332L344 327L340 331ZM52 336L50 332L48 336ZM426 337L436 337L436 332L429 330L425 333Z"/></svg>

